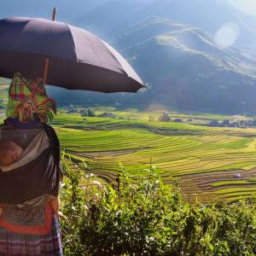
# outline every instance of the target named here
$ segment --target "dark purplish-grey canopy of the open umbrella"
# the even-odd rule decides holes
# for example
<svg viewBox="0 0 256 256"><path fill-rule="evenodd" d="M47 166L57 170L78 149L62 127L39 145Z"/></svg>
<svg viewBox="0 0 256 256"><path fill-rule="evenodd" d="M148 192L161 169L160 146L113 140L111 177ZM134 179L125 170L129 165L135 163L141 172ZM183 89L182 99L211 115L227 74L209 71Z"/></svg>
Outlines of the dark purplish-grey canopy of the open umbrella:
<svg viewBox="0 0 256 256"><path fill-rule="evenodd" d="M94 34L66 23L39 18L0 20L0 77L43 77L69 90L136 92L144 87L130 64Z"/></svg>

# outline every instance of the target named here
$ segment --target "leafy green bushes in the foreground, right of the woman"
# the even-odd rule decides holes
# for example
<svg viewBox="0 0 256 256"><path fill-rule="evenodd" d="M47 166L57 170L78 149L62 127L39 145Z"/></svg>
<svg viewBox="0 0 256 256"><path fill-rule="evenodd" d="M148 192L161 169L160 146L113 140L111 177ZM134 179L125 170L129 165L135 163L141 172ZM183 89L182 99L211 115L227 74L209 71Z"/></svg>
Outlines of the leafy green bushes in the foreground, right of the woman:
<svg viewBox="0 0 256 256"><path fill-rule="evenodd" d="M183 201L177 185L122 172L119 191L83 165L65 167L62 242L66 255L256 255L255 199L231 206Z"/></svg>

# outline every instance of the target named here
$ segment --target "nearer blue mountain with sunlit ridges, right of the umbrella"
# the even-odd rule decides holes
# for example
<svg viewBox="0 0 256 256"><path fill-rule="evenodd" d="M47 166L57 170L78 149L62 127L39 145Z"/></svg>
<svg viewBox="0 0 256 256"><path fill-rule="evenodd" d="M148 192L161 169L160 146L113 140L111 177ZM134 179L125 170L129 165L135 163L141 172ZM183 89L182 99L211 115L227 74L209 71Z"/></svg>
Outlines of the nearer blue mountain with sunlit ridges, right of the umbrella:
<svg viewBox="0 0 256 256"><path fill-rule="evenodd" d="M113 40L152 87L147 100L222 112L256 110L256 61L236 48L219 48L201 28L152 18Z"/></svg>

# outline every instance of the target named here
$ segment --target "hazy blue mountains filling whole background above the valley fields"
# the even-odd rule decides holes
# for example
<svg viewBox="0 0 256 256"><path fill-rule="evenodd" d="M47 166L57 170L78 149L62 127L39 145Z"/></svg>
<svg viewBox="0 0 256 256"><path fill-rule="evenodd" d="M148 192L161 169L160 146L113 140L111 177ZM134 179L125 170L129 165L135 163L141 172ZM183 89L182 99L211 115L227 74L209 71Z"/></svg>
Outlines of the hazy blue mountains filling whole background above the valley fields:
<svg viewBox="0 0 256 256"><path fill-rule="evenodd" d="M3 1L0 16L50 17L46 17L51 11L50 0ZM112 44L148 83L149 90L136 95L104 95L53 88L49 94L61 105L76 102L147 108L162 103L170 108L211 112L255 111L256 19L234 8L231 2L55 0L57 20L84 27ZM237 29L229 48L214 40L227 24Z"/></svg>

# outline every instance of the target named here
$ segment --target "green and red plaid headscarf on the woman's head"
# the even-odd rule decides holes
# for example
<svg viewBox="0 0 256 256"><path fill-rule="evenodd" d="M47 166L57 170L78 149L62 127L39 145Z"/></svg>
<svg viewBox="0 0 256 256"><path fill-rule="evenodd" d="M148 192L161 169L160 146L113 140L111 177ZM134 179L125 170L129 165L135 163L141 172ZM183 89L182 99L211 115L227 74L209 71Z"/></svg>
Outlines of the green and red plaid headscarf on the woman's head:
<svg viewBox="0 0 256 256"><path fill-rule="evenodd" d="M43 79L25 79L20 73L15 73L9 85L6 115L24 123L33 119L47 123L56 115L56 102L47 96Z"/></svg>

